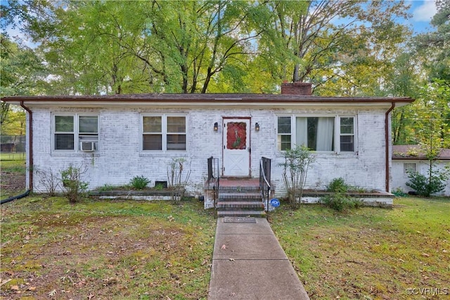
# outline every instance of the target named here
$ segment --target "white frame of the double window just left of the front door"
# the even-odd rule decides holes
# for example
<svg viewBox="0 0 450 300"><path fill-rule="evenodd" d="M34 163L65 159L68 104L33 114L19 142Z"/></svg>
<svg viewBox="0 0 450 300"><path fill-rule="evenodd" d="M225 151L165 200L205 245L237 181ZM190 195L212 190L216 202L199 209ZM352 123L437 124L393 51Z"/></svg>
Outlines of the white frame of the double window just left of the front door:
<svg viewBox="0 0 450 300"><path fill-rule="evenodd" d="M143 118L145 117L160 117L161 118L161 135L162 135L162 144L161 144L161 150L145 150L143 149L143 136L146 134L143 131ZM177 135L185 135L186 136L186 149L184 150L167 150L167 118L170 117L183 117L184 118L184 126L185 126L185 132L169 132L169 134L177 134ZM155 132L156 133L156 132ZM188 116L184 113L146 113L141 115L141 137L140 137L141 145L140 149L144 153L150 153L150 152L158 152L158 153L177 153L177 152L183 152L186 153L188 151Z"/></svg>

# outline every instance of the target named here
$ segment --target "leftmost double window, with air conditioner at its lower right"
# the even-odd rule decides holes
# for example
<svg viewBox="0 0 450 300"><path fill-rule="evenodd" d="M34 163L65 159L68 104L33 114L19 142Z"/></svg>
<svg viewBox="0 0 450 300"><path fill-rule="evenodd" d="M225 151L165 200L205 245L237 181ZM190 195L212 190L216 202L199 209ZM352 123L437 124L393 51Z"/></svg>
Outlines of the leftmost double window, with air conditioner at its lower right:
<svg viewBox="0 0 450 300"><path fill-rule="evenodd" d="M54 115L54 150L82 150L98 142L98 115ZM78 145L78 146L75 146ZM89 149L94 150L94 147Z"/></svg>

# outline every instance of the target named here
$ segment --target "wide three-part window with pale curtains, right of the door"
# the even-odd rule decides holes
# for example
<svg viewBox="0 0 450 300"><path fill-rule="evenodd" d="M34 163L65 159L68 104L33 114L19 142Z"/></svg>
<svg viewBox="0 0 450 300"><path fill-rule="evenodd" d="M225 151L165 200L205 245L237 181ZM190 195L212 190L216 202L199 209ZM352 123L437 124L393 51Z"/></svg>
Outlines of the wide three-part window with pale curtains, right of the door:
<svg viewBox="0 0 450 300"><path fill-rule="evenodd" d="M297 144L312 151L354 152L354 120L353 116L278 116L278 150Z"/></svg>

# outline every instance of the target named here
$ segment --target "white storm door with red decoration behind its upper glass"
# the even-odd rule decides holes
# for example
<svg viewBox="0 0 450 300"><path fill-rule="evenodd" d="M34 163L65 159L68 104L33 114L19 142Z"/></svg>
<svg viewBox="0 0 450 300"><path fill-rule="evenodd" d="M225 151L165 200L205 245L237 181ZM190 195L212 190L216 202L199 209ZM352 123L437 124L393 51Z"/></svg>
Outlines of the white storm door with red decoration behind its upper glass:
<svg viewBox="0 0 450 300"><path fill-rule="evenodd" d="M223 132L223 176L249 176L250 119L225 119Z"/></svg>

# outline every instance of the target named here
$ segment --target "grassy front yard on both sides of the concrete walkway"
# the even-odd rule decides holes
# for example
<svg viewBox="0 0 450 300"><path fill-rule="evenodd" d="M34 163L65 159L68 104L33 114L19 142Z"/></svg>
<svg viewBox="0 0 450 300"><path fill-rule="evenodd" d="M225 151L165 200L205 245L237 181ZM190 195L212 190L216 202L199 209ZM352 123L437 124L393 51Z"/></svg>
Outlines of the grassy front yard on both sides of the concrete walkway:
<svg viewBox="0 0 450 300"><path fill-rule="evenodd" d="M22 163L1 168L2 198L23 192L8 178ZM207 298L216 220L199 201L32 195L1 205L0 222L0 299ZM311 299L449 297L448 197L344 213L282 204L270 222Z"/></svg>

